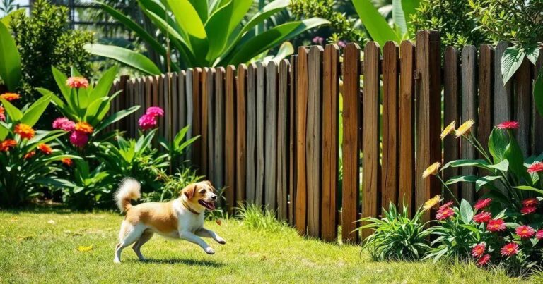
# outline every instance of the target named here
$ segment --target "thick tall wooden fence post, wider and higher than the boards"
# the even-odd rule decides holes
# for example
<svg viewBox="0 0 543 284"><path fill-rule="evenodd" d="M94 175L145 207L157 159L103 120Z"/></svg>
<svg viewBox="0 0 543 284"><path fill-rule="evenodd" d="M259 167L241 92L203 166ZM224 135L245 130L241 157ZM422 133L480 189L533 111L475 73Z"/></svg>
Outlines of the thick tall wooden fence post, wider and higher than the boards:
<svg viewBox="0 0 543 284"><path fill-rule="evenodd" d="M415 205L420 206L434 195L440 194L436 178L422 178L431 163L441 160L440 135L440 37L438 32L416 33L416 69L420 75L416 97L416 157L415 157ZM424 219L428 221L430 212Z"/></svg>

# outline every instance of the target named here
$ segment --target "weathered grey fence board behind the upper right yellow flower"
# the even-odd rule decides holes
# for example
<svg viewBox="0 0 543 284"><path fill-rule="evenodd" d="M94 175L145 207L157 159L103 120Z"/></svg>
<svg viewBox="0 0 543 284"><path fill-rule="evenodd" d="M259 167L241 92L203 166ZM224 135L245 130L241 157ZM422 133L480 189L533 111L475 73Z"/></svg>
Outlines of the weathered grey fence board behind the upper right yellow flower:
<svg viewBox="0 0 543 284"><path fill-rule="evenodd" d="M468 45L462 49L462 113L460 115L462 123L468 120L475 121L472 127L472 133L477 137L477 49ZM475 148L467 142L460 141L462 159L475 159L477 154ZM462 167L461 175L474 175L475 169L471 167ZM474 183L462 184L462 198L469 202L475 201Z"/></svg>

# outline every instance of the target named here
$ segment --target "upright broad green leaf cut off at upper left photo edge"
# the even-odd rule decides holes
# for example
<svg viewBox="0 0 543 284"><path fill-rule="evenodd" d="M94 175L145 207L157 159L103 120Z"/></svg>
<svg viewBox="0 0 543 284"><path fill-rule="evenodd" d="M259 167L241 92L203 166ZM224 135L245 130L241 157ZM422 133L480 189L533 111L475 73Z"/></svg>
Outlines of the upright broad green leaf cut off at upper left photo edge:
<svg viewBox="0 0 543 284"><path fill-rule="evenodd" d="M0 23L0 78L12 92L21 82L21 56L15 39L4 23Z"/></svg>

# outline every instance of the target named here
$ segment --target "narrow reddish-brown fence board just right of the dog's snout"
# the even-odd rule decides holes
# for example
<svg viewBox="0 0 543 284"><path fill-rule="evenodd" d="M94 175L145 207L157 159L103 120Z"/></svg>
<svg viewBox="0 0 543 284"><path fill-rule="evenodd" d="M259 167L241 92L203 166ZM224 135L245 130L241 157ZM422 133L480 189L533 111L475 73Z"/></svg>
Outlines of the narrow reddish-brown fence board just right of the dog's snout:
<svg viewBox="0 0 543 284"><path fill-rule="evenodd" d="M225 177L224 182L226 185L226 203L228 204L228 211L233 212L235 204L235 67L226 67L226 80L225 85L225 140L224 140L224 154L225 154Z"/></svg>

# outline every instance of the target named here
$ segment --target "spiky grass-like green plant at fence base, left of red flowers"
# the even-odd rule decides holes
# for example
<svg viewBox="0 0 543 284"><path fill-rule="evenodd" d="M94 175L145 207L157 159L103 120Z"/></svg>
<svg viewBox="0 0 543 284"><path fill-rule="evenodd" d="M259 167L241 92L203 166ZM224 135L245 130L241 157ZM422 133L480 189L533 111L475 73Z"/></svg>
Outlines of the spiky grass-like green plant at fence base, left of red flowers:
<svg viewBox="0 0 543 284"><path fill-rule="evenodd" d="M392 202L388 211L383 208L383 217L366 217L358 221L367 223L356 230L373 229L375 232L363 242L363 248L368 249L372 259L376 261L414 261L422 259L430 249L425 229L428 223L421 220L428 210L419 207L413 218L409 218L409 210L404 204L399 212Z"/></svg>

